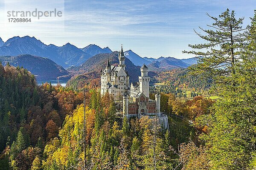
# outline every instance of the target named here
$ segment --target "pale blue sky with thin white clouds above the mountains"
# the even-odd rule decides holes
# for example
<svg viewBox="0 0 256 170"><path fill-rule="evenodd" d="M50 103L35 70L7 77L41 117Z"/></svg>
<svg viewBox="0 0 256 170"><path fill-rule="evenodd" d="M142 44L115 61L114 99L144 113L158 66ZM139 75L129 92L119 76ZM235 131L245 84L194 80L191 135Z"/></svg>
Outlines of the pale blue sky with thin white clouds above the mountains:
<svg viewBox="0 0 256 170"><path fill-rule="evenodd" d="M45 44L70 42L79 48L89 44L113 51L131 49L141 57L189 58L181 51L202 42L193 31L212 24L206 12L217 16L227 8L250 23L255 0L0 0L0 37L35 36ZM31 23L8 23L9 10L63 11L60 18Z"/></svg>

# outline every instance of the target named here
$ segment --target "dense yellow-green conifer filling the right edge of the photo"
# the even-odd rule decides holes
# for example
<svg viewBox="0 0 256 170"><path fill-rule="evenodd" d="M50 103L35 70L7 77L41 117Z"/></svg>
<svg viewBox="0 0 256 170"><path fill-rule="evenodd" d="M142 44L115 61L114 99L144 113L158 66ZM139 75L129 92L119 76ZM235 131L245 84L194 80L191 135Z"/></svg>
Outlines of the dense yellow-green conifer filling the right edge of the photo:
<svg viewBox="0 0 256 170"><path fill-rule="evenodd" d="M221 88L221 99L208 116L204 134L212 169L251 170L256 166L256 16L247 32L248 43L234 65L232 84ZM221 82L218 82L221 85Z"/></svg>

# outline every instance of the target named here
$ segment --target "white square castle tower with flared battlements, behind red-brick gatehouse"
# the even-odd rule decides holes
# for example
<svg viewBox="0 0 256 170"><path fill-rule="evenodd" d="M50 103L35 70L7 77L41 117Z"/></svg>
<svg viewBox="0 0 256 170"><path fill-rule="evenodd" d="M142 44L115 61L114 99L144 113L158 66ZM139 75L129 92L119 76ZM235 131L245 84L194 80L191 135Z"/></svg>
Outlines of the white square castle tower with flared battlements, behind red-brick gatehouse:
<svg viewBox="0 0 256 170"><path fill-rule="evenodd" d="M143 66L140 68L141 76L139 76L139 82L140 82L140 92L145 94L146 97L149 98L149 82L150 77L148 77L148 67L143 64Z"/></svg>

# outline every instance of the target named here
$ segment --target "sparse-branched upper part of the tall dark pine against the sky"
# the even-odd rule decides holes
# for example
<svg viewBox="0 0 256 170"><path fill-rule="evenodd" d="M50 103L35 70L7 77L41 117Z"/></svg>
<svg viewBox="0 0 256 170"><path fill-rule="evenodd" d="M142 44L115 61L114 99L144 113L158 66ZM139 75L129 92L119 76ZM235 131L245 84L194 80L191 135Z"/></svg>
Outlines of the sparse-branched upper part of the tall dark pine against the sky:
<svg viewBox="0 0 256 170"><path fill-rule="evenodd" d="M244 18L235 18L235 11L227 9L218 17L212 17L215 23L207 25L211 29L203 29L206 35L200 34L199 37L206 40L207 43L189 45L194 49L205 49L205 51L183 51L187 54L195 54L198 58L198 64L189 67L192 75L204 78L213 79L218 88L223 87L227 83L233 84L232 77L235 74L235 66L241 59L241 49L244 46L245 37L242 34L244 29L241 24ZM218 89L216 88L216 89Z"/></svg>

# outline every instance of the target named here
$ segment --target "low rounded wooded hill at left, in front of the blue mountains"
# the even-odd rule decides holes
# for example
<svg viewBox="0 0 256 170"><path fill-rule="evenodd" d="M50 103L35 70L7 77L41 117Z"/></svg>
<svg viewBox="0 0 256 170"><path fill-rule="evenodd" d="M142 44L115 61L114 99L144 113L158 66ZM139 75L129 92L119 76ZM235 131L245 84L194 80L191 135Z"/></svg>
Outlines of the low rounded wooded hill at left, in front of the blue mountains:
<svg viewBox="0 0 256 170"><path fill-rule="evenodd" d="M60 65L48 58L22 54L18 56L1 56L0 62L5 66L7 63L12 66L26 68L35 75L37 81L68 80L71 75Z"/></svg>

